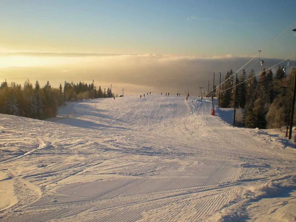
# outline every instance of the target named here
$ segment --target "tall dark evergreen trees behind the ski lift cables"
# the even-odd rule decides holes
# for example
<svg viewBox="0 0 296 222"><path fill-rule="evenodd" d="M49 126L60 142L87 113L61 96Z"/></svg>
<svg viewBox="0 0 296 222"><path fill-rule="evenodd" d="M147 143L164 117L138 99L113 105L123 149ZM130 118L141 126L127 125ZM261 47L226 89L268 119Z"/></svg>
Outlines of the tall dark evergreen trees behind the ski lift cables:
<svg viewBox="0 0 296 222"><path fill-rule="evenodd" d="M264 69L259 80L253 69L248 77L245 70L242 70L237 79L233 74L232 69L228 71L225 82L221 85L220 107L234 107L236 100L236 108L243 109L240 126L264 129L281 128L289 124L295 67L290 70L289 75L286 75L284 66L279 66L275 75L271 69ZM231 88L238 83L241 84Z"/></svg>

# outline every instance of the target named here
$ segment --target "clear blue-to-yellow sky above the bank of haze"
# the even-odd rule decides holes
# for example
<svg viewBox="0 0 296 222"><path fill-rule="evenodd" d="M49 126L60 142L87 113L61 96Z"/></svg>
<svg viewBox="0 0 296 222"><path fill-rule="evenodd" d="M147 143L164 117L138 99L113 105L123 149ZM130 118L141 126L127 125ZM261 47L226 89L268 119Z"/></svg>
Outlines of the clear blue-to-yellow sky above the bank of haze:
<svg viewBox="0 0 296 222"><path fill-rule="evenodd" d="M0 1L0 52L252 56L296 20L296 1ZM263 57L296 53L291 31Z"/></svg>

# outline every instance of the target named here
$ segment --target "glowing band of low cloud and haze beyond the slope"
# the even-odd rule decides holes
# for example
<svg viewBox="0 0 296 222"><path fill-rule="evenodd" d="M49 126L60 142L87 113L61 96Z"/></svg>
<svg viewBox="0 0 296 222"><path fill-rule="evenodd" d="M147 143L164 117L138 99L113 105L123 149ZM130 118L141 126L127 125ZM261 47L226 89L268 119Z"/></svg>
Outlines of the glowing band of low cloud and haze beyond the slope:
<svg viewBox="0 0 296 222"><path fill-rule="evenodd" d="M202 56L166 56L157 54L82 54L82 53L2 53L0 54L0 80L8 83L23 84L26 79L34 83L38 79L41 85L48 80L53 87L64 81L92 83L95 86L108 88L119 95L135 95L147 92L160 94L181 93L189 88L193 96L198 94L199 87L213 89L213 72L215 85L219 77L226 75L231 68L237 71L251 57ZM264 59L264 58L263 58ZM264 59L265 68L269 68L283 59ZM257 63L256 63L257 62ZM290 67L295 62L290 61ZM287 65L287 62L281 63ZM253 68L255 74L260 72L258 58L253 59L246 67L247 75ZM277 67L273 68L275 73ZM241 71L238 72L240 74ZM287 70L289 74L289 69Z"/></svg>

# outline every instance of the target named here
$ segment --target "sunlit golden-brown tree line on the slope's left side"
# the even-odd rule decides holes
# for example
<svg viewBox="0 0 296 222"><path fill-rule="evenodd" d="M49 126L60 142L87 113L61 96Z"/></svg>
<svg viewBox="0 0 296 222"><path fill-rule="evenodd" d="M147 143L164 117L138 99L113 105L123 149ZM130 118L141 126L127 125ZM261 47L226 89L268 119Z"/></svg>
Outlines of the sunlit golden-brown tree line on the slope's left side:
<svg viewBox="0 0 296 222"><path fill-rule="evenodd" d="M49 81L41 87L38 80L34 85L27 80L24 86L5 80L0 85L0 113L43 120L56 117L58 106L64 102L113 96L110 88L102 91L101 86L96 89L84 82L66 82L64 87L53 88Z"/></svg>

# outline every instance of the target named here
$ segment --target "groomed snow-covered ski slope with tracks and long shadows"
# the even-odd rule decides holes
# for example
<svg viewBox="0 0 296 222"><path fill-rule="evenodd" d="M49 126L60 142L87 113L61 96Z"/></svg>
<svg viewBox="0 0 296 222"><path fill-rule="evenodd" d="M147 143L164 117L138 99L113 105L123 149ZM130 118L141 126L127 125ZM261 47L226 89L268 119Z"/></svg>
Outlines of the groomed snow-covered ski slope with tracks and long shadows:
<svg viewBox="0 0 296 222"><path fill-rule="evenodd" d="M0 114L1 221L295 220L296 150L211 109L146 95Z"/></svg>

